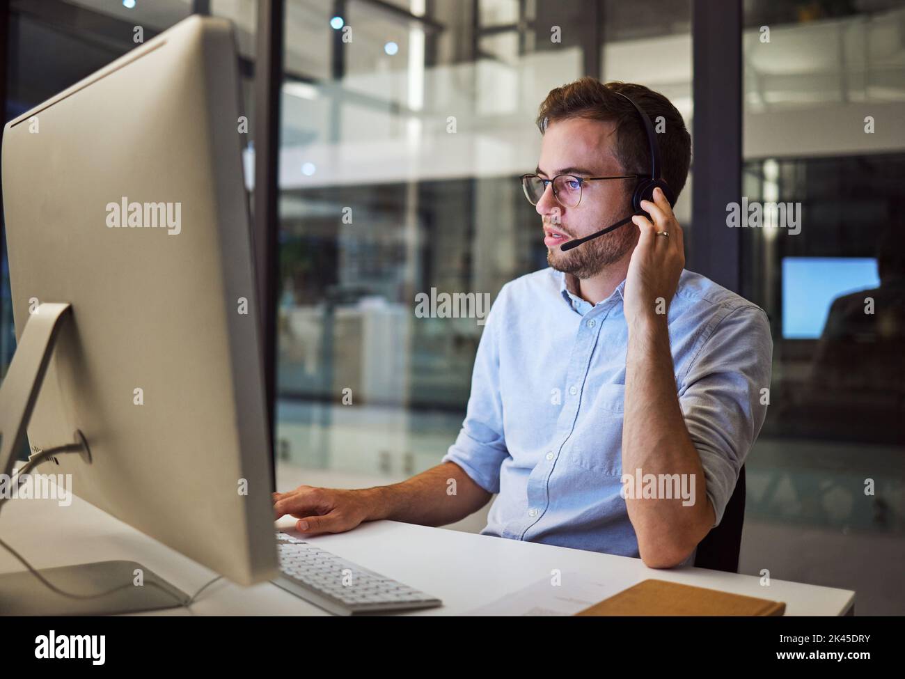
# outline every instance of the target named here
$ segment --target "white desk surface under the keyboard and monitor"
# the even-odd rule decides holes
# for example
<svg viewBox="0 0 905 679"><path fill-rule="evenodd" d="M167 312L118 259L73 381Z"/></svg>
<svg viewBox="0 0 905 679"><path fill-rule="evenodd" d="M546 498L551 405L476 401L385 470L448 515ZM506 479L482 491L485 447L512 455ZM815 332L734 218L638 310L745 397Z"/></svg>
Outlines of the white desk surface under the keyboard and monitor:
<svg viewBox="0 0 905 679"><path fill-rule="evenodd" d="M291 517L277 521L286 530ZM133 559L192 595L216 575L106 512L73 498L69 507L55 500L10 500L0 512L0 534L35 568L106 559ZM443 599L443 607L405 615L462 615L504 594L566 573L605 574L627 588L657 578L786 602L787 616L838 616L854 603L854 592L772 579L761 587L754 576L717 570L648 569L641 559L519 540L506 540L398 521L372 521L354 531L308 538L325 550L423 589ZM52 545L52 548L49 547ZM0 549L0 572L23 567ZM281 588L264 582L243 588L219 580L191 607L143 615L329 615Z"/></svg>

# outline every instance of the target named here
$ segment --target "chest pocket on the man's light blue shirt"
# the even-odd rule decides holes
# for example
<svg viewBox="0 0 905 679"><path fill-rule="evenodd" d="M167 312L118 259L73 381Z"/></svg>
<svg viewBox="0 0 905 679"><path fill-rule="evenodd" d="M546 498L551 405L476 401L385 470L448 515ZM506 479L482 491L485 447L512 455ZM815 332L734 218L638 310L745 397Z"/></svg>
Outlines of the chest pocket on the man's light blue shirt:
<svg viewBox="0 0 905 679"><path fill-rule="evenodd" d="M563 452L569 464L592 473L622 476L622 429L625 385L586 389L575 431Z"/></svg>

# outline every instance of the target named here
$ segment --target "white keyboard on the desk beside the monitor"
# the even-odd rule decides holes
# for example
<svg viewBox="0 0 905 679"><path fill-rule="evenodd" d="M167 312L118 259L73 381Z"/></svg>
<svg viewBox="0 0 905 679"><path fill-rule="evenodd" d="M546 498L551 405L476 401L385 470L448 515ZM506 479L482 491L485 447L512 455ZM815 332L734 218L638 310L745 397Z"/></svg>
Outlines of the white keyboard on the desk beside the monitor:
<svg viewBox="0 0 905 679"><path fill-rule="evenodd" d="M287 533L277 532L277 550L281 575L271 582L338 616L443 606L438 598Z"/></svg>

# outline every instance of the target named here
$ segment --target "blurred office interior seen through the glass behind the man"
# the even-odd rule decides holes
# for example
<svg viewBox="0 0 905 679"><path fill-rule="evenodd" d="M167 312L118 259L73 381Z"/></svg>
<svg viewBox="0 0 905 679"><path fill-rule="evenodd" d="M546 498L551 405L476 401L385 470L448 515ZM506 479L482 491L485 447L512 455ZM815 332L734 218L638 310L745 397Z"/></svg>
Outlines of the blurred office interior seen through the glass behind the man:
<svg viewBox="0 0 905 679"><path fill-rule="evenodd" d="M281 490L392 483L438 463L462 423L482 328L417 318L414 296L493 298L546 266L517 177L537 163L534 117L553 87L582 75L641 82L692 128L694 41L710 39L692 30L700 2L280 4L279 146L266 160L278 176ZM147 40L195 12L235 23L253 118L259 9L258 0L12 0L5 120L128 52L134 26ZM852 588L856 613L902 614L905 2L745 0L741 24L741 153L724 169L740 173L749 200L800 202L804 216L795 235L739 230L729 263L730 286L767 310L775 340L739 570ZM694 223L693 186L694 167L677 206L689 268L727 229ZM710 274L709 260L697 261ZM0 292L3 374L14 351L5 253ZM870 318L865 297L876 304ZM454 527L480 531L485 515Z"/></svg>

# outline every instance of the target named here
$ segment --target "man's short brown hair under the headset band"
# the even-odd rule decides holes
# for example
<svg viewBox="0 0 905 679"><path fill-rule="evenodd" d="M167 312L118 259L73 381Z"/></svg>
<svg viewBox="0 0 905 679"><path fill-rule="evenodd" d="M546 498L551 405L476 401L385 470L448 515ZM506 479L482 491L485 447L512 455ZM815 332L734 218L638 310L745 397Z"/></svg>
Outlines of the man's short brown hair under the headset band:
<svg viewBox="0 0 905 679"><path fill-rule="evenodd" d="M630 97L651 119L657 129L662 116L665 129L657 135L662 158L663 179L676 198L685 186L691 165L691 135L685 121L672 102L660 92L631 82L607 82L585 77L551 90L538 110L538 129L543 134L550 123L570 118L606 120L615 123L615 156L627 174L650 174L651 151L638 111L631 103L618 97L620 92Z"/></svg>

